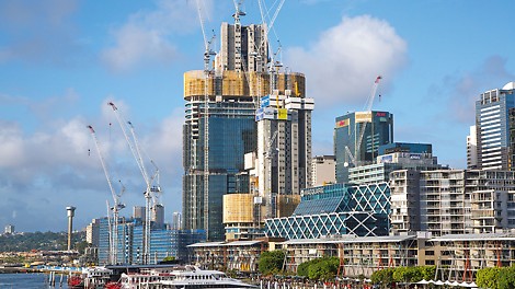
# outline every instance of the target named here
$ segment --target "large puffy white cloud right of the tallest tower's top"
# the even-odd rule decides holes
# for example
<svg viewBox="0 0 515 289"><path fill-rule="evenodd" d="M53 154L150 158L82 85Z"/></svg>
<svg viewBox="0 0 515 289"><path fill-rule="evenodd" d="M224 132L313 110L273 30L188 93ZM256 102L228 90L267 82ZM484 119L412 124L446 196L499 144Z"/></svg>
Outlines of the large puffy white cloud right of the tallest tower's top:
<svg viewBox="0 0 515 289"><path fill-rule="evenodd" d="M319 108L365 104L378 74L392 79L407 58L407 43L386 21L369 15L343 18L308 48L287 49L287 63L307 78Z"/></svg>

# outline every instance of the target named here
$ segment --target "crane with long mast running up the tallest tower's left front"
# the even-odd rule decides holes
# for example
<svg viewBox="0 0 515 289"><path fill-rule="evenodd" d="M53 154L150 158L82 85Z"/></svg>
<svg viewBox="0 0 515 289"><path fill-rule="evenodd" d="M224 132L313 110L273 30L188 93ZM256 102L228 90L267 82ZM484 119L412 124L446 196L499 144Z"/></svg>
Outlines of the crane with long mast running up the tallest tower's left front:
<svg viewBox="0 0 515 289"><path fill-rule="evenodd" d="M207 41L206 31L204 27L204 18L202 15L201 2L196 0L198 20L201 21L202 35L204 37L204 230L206 238L209 238L209 62L210 57L216 55L210 46L215 39L215 35Z"/></svg>

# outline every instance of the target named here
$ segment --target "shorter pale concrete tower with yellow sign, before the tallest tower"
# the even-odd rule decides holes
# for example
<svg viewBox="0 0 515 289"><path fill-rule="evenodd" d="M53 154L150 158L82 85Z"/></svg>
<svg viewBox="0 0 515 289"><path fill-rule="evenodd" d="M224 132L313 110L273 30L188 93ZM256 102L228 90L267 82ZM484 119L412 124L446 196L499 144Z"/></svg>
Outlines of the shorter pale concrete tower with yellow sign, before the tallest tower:
<svg viewBox="0 0 515 289"><path fill-rule="evenodd" d="M287 74L286 77L293 77ZM302 78L296 74L295 81ZM290 84L295 86L295 84ZM311 111L313 99L298 91L262 97L258 109L258 187L265 218L289 217L281 197L298 196L311 180ZM286 213L286 215L285 215Z"/></svg>

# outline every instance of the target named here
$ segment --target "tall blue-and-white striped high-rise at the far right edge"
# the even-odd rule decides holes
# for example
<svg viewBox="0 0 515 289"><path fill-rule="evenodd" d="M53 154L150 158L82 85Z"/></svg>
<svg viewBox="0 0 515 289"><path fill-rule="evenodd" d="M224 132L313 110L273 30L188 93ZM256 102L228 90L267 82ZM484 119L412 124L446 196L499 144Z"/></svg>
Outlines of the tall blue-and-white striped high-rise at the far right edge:
<svg viewBox="0 0 515 289"><path fill-rule="evenodd" d="M510 112L515 108L515 82L487 91L476 102L478 169L512 170ZM513 124L513 122L512 122Z"/></svg>

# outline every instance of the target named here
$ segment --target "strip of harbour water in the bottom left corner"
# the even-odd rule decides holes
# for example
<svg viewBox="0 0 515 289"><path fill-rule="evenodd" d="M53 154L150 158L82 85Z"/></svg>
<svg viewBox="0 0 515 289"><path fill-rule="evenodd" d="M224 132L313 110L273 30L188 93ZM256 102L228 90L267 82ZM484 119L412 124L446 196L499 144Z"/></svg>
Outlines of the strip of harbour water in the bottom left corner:
<svg viewBox="0 0 515 289"><path fill-rule="evenodd" d="M0 274L0 289L68 289L66 276L62 276L62 286L59 285L60 275L56 275L55 286L48 284L48 275L43 273L32 274Z"/></svg>

